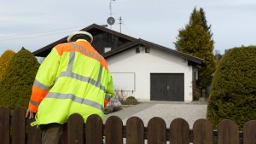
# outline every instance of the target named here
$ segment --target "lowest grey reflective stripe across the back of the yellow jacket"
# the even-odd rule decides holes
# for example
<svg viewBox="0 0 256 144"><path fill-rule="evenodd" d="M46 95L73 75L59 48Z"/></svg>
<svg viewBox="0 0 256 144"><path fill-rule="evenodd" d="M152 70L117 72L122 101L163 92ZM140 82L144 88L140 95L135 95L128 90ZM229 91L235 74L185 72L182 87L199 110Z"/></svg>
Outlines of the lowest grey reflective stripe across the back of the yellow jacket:
<svg viewBox="0 0 256 144"><path fill-rule="evenodd" d="M88 105L90 107L95 107L96 109L99 109L102 112L104 112L104 107L102 107L101 104L99 104L95 101L90 101L87 99L77 97L76 95L73 95L73 94L60 94L60 93L49 92L49 95L47 95L46 97L47 98L55 98L55 99L68 99L68 100L71 100L74 102L78 102L80 104Z"/></svg>

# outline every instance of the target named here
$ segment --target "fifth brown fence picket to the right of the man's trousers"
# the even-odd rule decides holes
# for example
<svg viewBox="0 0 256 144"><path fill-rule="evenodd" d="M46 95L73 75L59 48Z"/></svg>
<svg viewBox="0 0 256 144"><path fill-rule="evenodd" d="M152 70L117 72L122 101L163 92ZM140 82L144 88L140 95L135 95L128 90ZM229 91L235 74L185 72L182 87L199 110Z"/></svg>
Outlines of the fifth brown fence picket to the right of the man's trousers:
<svg viewBox="0 0 256 144"><path fill-rule="evenodd" d="M162 118L154 117L148 121L148 144L166 143L166 122Z"/></svg>

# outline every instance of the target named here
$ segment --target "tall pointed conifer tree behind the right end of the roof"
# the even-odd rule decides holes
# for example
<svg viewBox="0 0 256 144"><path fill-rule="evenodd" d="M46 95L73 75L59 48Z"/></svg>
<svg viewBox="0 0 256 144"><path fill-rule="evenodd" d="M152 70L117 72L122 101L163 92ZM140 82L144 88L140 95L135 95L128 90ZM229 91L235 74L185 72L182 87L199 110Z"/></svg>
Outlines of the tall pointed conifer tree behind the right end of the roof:
<svg viewBox="0 0 256 144"><path fill-rule="evenodd" d="M202 88L210 85L211 74L216 69L213 43L210 26L207 26L203 9L200 11L194 9L190 16L189 24L179 30L177 42L174 44L178 51L205 60L205 66L197 66Z"/></svg>

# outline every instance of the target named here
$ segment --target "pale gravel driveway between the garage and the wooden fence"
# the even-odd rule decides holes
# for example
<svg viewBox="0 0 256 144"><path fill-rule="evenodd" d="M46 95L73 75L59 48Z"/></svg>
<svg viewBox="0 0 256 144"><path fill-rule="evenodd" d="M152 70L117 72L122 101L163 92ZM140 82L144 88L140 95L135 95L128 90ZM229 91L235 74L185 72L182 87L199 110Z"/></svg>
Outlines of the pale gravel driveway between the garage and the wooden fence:
<svg viewBox="0 0 256 144"><path fill-rule="evenodd" d="M191 103L184 102L166 102L166 101L150 101L142 102L133 107L124 108L118 112L105 115L104 123L110 116L118 116L126 124L128 118L137 116L143 120L145 126L148 121L154 117L163 118L166 121L167 128L170 127L172 120L175 118L183 118L189 123L189 128L193 128L193 124L197 119L206 118L207 102L193 101Z"/></svg>

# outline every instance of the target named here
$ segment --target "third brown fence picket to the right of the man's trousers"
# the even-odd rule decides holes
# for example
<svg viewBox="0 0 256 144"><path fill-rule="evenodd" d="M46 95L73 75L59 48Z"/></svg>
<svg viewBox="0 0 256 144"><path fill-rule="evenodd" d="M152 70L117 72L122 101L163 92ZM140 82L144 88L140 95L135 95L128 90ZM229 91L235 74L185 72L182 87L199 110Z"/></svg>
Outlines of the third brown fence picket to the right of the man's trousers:
<svg viewBox="0 0 256 144"><path fill-rule="evenodd" d="M106 143L120 144L123 143L123 122L117 116L111 116L105 124Z"/></svg>

